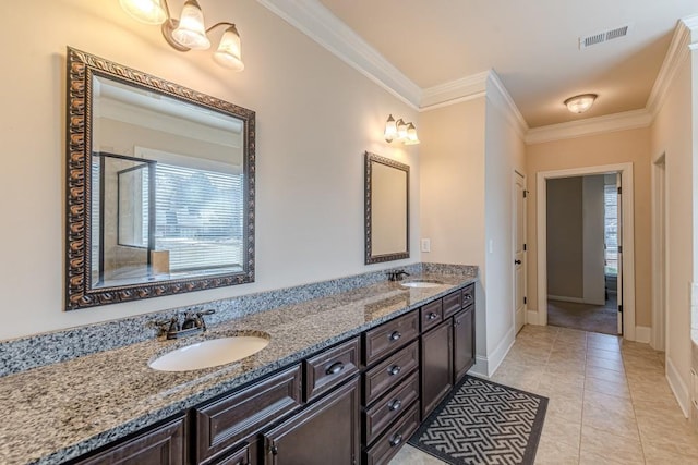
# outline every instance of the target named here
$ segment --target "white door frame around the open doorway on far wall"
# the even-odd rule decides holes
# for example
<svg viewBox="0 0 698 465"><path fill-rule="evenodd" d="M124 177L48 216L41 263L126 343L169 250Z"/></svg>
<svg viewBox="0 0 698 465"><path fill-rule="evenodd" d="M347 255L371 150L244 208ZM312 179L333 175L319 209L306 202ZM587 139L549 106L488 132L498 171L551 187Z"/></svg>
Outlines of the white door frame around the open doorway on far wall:
<svg viewBox="0 0 698 465"><path fill-rule="evenodd" d="M619 172L623 187L623 338L635 341L635 210L633 163L603 164L567 170L540 171L537 174L537 257L538 257L538 325L547 325L547 183L555 178L585 176ZM530 319L529 319L530 321ZM532 322L532 321L531 321Z"/></svg>

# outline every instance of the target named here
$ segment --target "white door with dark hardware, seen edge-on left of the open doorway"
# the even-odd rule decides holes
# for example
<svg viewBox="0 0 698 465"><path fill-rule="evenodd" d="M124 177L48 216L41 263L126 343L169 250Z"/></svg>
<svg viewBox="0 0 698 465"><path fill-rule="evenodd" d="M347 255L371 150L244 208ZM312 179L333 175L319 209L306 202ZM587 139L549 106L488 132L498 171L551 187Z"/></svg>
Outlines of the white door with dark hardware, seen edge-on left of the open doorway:
<svg viewBox="0 0 698 465"><path fill-rule="evenodd" d="M526 320L526 178L514 172L514 328Z"/></svg>

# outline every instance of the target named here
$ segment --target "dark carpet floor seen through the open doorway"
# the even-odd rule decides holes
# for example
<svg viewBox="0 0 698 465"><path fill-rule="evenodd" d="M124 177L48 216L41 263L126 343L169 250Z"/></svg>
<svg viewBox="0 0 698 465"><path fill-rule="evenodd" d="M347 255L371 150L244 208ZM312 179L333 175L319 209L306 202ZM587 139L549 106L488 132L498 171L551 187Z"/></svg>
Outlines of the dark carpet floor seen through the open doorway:
<svg viewBox="0 0 698 465"><path fill-rule="evenodd" d="M605 306L547 301L547 325L617 334L617 304L610 294Z"/></svg>

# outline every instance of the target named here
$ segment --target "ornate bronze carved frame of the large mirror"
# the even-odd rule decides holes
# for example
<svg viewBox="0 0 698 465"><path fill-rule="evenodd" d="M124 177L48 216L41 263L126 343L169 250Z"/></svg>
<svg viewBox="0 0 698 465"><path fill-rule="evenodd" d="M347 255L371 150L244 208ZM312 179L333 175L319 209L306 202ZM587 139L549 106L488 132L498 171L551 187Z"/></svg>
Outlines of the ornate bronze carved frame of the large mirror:
<svg viewBox="0 0 698 465"><path fill-rule="evenodd" d="M65 308L244 284L254 281L255 112L178 84L68 47ZM234 117L243 123L243 269L241 272L167 279L92 289L92 96L93 75Z"/></svg>

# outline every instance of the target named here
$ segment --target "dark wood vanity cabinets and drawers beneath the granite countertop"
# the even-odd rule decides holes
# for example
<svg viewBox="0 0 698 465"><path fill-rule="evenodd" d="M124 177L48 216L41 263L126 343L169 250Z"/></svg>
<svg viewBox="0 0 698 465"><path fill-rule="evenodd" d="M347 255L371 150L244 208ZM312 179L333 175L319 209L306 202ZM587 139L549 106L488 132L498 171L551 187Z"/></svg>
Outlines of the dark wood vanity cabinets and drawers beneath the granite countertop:
<svg viewBox="0 0 698 465"><path fill-rule="evenodd" d="M474 363L473 284L440 295L72 463L385 464Z"/></svg>

